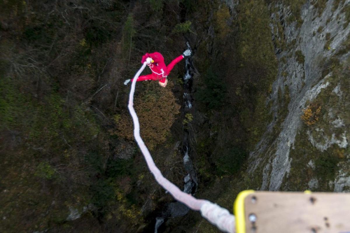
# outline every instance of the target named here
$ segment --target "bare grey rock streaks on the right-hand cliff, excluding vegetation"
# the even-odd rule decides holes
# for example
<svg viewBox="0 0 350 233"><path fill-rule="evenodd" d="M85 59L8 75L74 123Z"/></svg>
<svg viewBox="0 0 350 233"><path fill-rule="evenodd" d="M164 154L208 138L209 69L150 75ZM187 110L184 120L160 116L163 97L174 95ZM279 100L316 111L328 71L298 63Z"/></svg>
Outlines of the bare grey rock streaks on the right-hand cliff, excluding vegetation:
<svg viewBox="0 0 350 233"><path fill-rule="evenodd" d="M275 119L267 126L264 136L249 157L248 172L252 174L259 167L261 171L263 170L261 189L279 190L283 177L288 175L291 166L289 152L293 148L295 136L302 125L300 118L302 109L329 85L327 76L322 77L322 60L335 56L343 41L349 36L350 26L343 28L345 15L342 12L343 7L349 3L350 0L346 0L344 5L339 4L338 8L332 12L333 1L327 1L326 7L318 17L317 9L310 4L310 1L307 1L301 9L303 23L300 28L297 28L296 22L287 23L286 19L291 14L289 7L283 3L274 5L279 9L279 20L284 29L282 35L285 37L286 43L292 45L285 50L275 48L276 57L279 60L278 77L273 83L272 93L267 101L267 103L270 101L273 103L272 113ZM276 18L276 14L272 14L271 17ZM273 25L270 26L273 34L272 39L279 37L280 35L274 34ZM322 30L320 31L319 28ZM330 37L330 40L327 40L326 35ZM327 42L329 48L324 48ZM296 53L302 54L303 63L300 63L300 60L297 61ZM349 52L339 55L338 59L342 62L348 56ZM287 76L282 74L287 74ZM271 135L272 128L278 120L276 119L278 117L276 113L279 110L279 106L276 104L278 92L279 90L283 92L285 87L289 89L290 96L288 114L280 125L279 135L271 143L268 136ZM339 87L335 88L334 92L338 96L342 95ZM342 127L343 125L341 119L335 119L331 124L334 127ZM311 137L309 140L320 151L327 149L332 144L338 144L341 148L348 145L346 132L340 138L331 135L323 145ZM315 181L312 181L310 185L316 187Z"/></svg>

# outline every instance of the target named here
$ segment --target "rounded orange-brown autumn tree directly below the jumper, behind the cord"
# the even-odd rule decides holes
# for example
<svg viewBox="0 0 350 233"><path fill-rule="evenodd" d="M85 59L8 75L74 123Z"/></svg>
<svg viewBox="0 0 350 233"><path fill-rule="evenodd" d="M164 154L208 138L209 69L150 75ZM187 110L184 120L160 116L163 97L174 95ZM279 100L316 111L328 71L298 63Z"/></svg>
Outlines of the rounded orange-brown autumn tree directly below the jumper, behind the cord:
<svg viewBox="0 0 350 233"><path fill-rule="evenodd" d="M166 88L156 82L144 82L146 90L135 96L134 108L140 121L141 137L148 149L153 150L164 143L179 113L180 105L171 91L174 84L169 82ZM133 122L129 112L116 119L116 131L112 132L129 140L134 139Z"/></svg>

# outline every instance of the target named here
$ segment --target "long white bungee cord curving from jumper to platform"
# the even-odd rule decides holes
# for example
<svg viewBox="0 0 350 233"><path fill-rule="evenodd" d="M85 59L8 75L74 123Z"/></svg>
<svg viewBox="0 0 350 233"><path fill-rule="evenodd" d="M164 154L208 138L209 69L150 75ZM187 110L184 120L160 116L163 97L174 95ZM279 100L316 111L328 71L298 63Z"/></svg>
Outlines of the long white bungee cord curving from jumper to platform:
<svg viewBox="0 0 350 233"><path fill-rule="evenodd" d="M182 192L176 185L171 183L165 177L163 177L162 173L155 165L151 154L149 153L144 141L140 136L140 124L139 118L134 109L134 92L136 81L140 76L141 72L145 69L146 65L151 63L152 59L147 58L142 67L135 74L132 84L131 90L129 94L129 104L128 109L130 111L131 117L134 122L134 137L141 149L142 154L146 160L148 169L153 174L156 181L162 186L165 190L167 190L176 200L181 203L187 205L192 210L200 211L202 216L207 219L211 224L216 225L221 231L235 233L235 216L230 214L228 210L222 208L221 206L211 203L208 200L196 199L191 194Z"/></svg>

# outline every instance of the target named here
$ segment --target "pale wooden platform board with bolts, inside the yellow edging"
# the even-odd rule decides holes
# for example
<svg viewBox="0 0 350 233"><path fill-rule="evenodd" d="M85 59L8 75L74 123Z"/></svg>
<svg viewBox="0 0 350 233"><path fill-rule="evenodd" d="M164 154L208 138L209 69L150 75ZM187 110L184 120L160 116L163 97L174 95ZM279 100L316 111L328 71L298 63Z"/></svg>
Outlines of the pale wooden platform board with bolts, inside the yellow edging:
<svg viewBox="0 0 350 233"><path fill-rule="evenodd" d="M350 233L350 194L255 192L244 204L247 233Z"/></svg>

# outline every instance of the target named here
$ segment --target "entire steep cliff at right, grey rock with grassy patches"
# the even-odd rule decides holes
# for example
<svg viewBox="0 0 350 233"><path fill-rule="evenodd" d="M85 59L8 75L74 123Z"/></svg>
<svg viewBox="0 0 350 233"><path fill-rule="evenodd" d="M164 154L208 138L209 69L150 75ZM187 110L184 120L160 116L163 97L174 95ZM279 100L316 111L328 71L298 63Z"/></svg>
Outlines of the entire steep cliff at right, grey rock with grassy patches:
<svg viewBox="0 0 350 233"><path fill-rule="evenodd" d="M349 191L350 1L311 2L293 22L288 5L269 5L279 61L267 100L274 119L248 167L262 171L261 190Z"/></svg>

